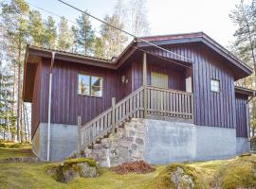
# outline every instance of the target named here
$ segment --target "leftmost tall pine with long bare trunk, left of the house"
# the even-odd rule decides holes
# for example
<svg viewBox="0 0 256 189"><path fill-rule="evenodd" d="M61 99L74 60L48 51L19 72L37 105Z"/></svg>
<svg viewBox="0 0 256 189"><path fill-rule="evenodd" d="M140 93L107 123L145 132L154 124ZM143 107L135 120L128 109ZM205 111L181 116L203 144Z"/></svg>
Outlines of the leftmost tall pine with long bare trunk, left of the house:
<svg viewBox="0 0 256 189"><path fill-rule="evenodd" d="M21 113L21 86L22 86L22 67L25 48L27 45L28 35L28 13L29 7L25 0L11 0L10 3L2 3L1 17L5 26L8 43L6 56L18 67L17 73L17 125L16 136L18 141L23 140L21 134L22 129L22 113ZM15 71L15 70L14 70Z"/></svg>

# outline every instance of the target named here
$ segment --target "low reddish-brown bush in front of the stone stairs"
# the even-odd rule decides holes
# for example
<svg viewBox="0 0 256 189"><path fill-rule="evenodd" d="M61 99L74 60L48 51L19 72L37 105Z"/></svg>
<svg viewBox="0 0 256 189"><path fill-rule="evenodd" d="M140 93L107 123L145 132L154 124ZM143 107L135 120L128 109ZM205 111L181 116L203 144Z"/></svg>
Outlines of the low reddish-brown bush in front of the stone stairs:
<svg viewBox="0 0 256 189"><path fill-rule="evenodd" d="M155 171L155 168L143 161L137 161L133 163L122 163L119 166L113 167L112 170L118 174L123 175L128 173L150 173Z"/></svg>

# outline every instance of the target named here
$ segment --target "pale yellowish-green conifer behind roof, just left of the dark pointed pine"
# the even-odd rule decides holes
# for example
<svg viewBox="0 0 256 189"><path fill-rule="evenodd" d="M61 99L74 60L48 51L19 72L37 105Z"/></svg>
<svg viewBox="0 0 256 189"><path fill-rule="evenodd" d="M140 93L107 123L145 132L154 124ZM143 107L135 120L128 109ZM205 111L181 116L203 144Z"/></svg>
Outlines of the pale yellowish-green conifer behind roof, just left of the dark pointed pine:
<svg viewBox="0 0 256 189"><path fill-rule="evenodd" d="M67 20L62 17L58 26L58 49L68 51L72 46L72 32Z"/></svg>

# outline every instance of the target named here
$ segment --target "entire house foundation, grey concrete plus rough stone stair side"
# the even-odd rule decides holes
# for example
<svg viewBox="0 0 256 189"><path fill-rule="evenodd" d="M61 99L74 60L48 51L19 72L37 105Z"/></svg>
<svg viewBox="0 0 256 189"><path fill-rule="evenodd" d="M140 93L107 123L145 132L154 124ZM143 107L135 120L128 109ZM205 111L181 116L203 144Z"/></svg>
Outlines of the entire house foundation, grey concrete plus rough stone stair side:
<svg viewBox="0 0 256 189"><path fill-rule="evenodd" d="M47 155L47 124L41 123L33 138L33 151L43 161ZM246 138L236 129L195 126L155 119L132 119L95 148L87 157L102 165L118 165L138 159L149 163L174 163L228 159L249 151ZM61 161L77 149L77 127L51 124L50 161Z"/></svg>

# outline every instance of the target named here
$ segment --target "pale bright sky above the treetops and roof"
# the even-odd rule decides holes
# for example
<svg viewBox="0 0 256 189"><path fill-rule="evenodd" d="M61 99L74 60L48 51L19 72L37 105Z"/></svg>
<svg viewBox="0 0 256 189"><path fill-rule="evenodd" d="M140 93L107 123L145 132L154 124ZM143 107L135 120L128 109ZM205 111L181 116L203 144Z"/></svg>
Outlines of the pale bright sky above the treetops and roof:
<svg viewBox="0 0 256 189"><path fill-rule="evenodd" d="M106 14L111 14L116 3L116 0L64 1L79 9L87 9L101 19ZM234 40L236 28L229 13L239 2L240 0L147 0L151 35L203 31L216 42L229 46ZM75 21L80 15L77 10L70 9L57 0L27 0L27 3L65 16L71 21ZM44 17L49 15L44 11L42 14ZM100 24L94 21L93 26L98 27Z"/></svg>

